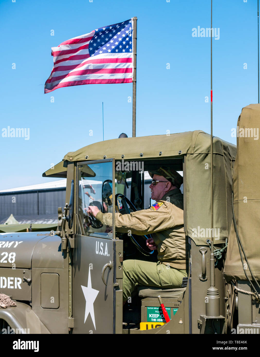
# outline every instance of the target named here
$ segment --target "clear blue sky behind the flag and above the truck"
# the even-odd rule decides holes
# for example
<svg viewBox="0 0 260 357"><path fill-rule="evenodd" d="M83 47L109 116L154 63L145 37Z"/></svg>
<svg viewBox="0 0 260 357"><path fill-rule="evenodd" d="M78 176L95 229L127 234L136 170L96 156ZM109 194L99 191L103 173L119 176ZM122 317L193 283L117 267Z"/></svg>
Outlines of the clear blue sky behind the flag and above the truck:
<svg viewBox="0 0 260 357"><path fill-rule="evenodd" d="M212 41L213 134L234 144L231 129L242 107L258 100L257 0L244 1L213 0L212 26L220 35ZM8 126L30 128L29 140L0 136L0 190L53 181L41 177L52 163L103 140L102 101L104 139L121 132L132 136L132 84L44 94L44 83L53 67L51 47L133 16L138 18L136 136L210 133L210 100L205 102L210 37L192 37L192 28L210 27L209 0L0 0L0 14L0 133Z"/></svg>

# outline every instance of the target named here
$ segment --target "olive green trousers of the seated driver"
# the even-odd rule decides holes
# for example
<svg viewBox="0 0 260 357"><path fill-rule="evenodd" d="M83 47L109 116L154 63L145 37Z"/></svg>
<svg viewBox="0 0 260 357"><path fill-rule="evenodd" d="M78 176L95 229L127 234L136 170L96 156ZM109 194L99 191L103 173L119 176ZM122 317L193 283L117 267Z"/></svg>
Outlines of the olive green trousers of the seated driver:
<svg viewBox="0 0 260 357"><path fill-rule="evenodd" d="M177 270L161 264L142 260L125 260L123 262L123 302L127 301L137 290L137 285L160 288L179 288L186 270Z"/></svg>

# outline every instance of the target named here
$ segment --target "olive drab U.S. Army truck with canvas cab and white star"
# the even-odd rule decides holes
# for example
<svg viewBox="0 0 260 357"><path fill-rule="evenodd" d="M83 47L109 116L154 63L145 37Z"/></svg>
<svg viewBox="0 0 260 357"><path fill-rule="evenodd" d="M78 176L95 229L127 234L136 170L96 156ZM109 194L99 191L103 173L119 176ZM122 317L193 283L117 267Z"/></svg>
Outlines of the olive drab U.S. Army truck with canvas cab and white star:
<svg viewBox="0 0 260 357"><path fill-rule="evenodd" d="M247 134L258 131L259 115L260 105L249 105L237 126ZM240 136L240 129L237 148L213 138L213 230L211 136L201 130L97 142L44 172L67 178L66 201L55 232L0 235L0 293L16 303L0 309L0 330L259 333L260 147L254 129L252 136ZM158 165L183 175L188 277L176 289L138 286L123 306L124 261L156 261L156 252L146 247L146 236L118 233L115 213L148 208L144 173ZM89 205L112 212L112 227L89 217Z"/></svg>

